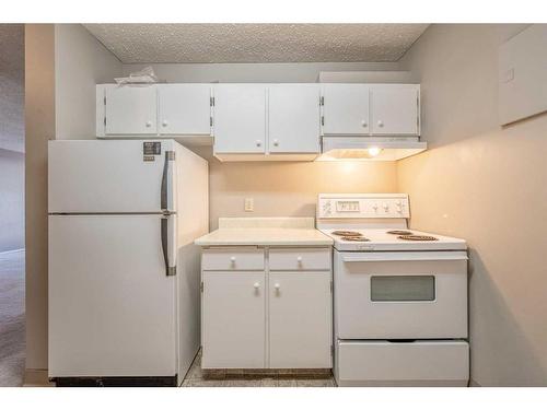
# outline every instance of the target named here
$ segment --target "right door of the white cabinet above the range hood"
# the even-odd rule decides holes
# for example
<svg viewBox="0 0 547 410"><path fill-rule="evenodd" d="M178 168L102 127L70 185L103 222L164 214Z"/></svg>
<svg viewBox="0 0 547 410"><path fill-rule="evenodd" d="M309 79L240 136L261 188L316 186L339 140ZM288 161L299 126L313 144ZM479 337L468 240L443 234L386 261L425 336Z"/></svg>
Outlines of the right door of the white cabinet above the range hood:
<svg viewBox="0 0 547 410"><path fill-rule="evenodd" d="M371 89L372 133L419 134L418 85L385 84Z"/></svg>

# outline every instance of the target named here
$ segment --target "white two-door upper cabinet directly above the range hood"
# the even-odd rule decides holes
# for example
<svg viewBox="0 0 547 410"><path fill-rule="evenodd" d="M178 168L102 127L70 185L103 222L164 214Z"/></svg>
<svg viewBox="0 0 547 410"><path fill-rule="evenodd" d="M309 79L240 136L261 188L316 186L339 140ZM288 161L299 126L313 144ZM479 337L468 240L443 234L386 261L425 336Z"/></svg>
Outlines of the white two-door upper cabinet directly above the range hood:
<svg viewBox="0 0 547 410"><path fill-rule="evenodd" d="M419 84L323 84L324 136L419 136Z"/></svg>

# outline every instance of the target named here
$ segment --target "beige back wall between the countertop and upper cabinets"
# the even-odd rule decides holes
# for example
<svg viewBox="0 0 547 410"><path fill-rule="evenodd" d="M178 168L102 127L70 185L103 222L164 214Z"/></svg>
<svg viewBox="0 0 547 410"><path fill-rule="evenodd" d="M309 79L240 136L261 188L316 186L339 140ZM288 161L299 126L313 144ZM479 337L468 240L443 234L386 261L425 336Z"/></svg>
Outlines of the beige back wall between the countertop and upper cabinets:
<svg viewBox="0 0 547 410"><path fill-rule="evenodd" d="M219 216L315 216L319 192L395 192L396 166L382 162L209 162L210 227ZM245 198L254 212L244 211Z"/></svg>

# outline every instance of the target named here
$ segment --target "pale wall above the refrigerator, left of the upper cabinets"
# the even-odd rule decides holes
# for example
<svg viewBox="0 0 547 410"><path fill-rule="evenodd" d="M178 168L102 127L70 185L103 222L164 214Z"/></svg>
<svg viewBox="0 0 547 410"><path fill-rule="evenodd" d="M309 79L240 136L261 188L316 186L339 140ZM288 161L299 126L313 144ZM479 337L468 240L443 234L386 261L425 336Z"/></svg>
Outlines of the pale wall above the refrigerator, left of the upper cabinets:
<svg viewBox="0 0 547 410"><path fill-rule="evenodd" d="M81 24L55 25L56 139L95 137L95 84L121 72L121 62Z"/></svg>

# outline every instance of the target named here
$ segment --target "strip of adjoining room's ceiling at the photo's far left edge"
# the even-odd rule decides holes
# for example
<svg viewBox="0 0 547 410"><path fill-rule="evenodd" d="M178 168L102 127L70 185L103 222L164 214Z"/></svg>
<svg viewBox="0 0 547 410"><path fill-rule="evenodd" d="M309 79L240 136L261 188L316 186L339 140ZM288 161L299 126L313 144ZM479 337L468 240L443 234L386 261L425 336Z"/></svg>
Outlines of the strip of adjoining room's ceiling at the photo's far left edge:
<svg viewBox="0 0 547 410"><path fill-rule="evenodd" d="M24 152L24 27L0 24L0 149Z"/></svg>

